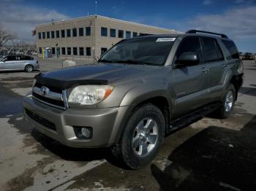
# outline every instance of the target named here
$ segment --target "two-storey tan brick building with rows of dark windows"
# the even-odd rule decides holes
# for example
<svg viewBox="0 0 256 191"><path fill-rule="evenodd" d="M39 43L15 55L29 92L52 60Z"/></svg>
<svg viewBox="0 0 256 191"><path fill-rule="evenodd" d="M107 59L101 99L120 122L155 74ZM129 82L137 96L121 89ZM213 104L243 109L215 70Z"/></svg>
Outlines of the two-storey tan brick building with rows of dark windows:
<svg viewBox="0 0 256 191"><path fill-rule="evenodd" d="M95 61L113 44L140 34L178 34L180 32L91 15L36 26L39 58Z"/></svg>

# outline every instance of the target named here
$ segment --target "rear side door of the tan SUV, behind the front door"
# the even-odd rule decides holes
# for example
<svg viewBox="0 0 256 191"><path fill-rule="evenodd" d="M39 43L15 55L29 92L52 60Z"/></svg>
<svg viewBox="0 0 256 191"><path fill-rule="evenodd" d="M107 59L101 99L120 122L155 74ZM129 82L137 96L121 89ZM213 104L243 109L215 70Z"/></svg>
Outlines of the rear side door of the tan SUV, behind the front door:
<svg viewBox="0 0 256 191"><path fill-rule="evenodd" d="M209 101L217 101L222 95L222 76L227 67L227 61L224 59L217 39L201 37L201 42L203 45L203 59L209 67L208 88L211 93Z"/></svg>

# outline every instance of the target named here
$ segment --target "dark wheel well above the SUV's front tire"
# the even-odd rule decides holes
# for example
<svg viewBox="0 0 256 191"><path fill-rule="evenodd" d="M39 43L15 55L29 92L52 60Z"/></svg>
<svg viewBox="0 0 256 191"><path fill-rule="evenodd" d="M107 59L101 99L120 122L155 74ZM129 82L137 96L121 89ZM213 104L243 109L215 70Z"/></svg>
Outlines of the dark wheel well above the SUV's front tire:
<svg viewBox="0 0 256 191"><path fill-rule="evenodd" d="M170 126L170 109L169 109L169 104L167 99L162 96L149 98L145 101L140 102L140 104L135 106L135 109L144 104L153 104L154 106L157 106L157 108L161 110L163 116L165 117L165 133L167 133Z"/></svg>

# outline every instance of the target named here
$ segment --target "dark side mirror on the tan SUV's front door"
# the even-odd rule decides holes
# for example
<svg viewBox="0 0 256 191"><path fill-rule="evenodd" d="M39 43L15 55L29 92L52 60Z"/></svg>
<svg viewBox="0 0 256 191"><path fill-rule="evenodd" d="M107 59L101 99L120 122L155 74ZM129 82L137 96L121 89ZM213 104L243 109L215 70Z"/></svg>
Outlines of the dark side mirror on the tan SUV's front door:
<svg viewBox="0 0 256 191"><path fill-rule="evenodd" d="M199 56L195 52L184 52L178 57L176 61L178 66L195 66L198 63Z"/></svg>

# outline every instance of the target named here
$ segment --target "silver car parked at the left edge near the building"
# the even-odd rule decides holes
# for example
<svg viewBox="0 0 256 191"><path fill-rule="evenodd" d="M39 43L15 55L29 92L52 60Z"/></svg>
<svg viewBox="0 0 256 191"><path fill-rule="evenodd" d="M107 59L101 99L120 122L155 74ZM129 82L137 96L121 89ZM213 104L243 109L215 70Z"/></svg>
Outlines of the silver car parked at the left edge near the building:
<svg viewBox="0 0 256 191"><path fill-rule="evenodd" d="M0 57L0 71L39 69L39 63L29 55L4 55Z"/></svg>

